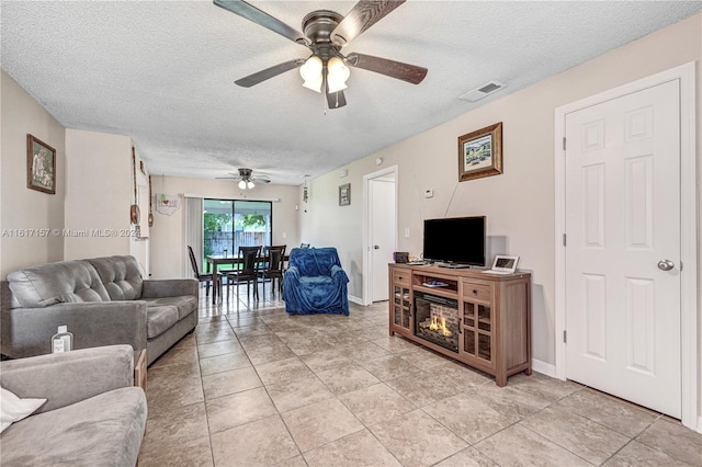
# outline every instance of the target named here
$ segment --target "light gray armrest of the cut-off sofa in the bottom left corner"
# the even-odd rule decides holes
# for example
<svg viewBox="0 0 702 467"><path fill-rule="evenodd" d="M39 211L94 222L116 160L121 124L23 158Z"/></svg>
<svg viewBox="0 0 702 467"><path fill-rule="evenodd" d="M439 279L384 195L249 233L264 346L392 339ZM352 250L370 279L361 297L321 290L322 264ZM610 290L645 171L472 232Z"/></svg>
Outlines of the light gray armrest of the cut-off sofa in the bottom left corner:
<svg viewBox="0 0 702 467"><path fill-rule="evenodd" d="M36 413L134 384L134 350L110 345L0 363L0 384L22 398L48 399Z"/></svg>

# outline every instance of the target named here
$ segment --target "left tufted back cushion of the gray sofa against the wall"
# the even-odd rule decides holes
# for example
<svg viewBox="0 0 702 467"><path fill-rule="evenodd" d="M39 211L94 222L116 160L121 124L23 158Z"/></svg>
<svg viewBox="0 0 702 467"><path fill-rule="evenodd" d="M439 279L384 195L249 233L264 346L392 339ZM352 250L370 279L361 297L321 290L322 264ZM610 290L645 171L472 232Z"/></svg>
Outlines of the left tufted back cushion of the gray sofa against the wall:
<svg viewBox="0 0 702 467"><path fill-rule="evenodd" d="M8 274L12 308L44 308L75 301L110 301L95 269L87 261L60 261Z"/></svg>

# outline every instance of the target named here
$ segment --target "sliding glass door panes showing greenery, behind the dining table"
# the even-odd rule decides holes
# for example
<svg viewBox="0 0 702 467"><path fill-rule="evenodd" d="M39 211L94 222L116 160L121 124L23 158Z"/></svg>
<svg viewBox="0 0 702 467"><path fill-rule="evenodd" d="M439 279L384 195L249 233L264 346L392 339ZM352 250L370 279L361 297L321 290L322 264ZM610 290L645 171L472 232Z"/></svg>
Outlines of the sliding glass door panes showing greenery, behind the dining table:
<svg viewBox="0 0 702 467"><path fill-rule="evenodd" d="M204 200L203 252L231 254L239 247L271 244L273 206L268 201Z"/></svg>

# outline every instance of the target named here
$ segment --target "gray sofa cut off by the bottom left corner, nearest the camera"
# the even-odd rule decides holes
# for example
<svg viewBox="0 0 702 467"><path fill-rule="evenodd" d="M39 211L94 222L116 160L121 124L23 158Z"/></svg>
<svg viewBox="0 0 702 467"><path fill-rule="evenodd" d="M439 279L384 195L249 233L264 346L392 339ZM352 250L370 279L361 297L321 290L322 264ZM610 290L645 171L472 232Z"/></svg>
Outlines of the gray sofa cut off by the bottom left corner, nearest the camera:
<svg viewBox="0 0 702 467"><path fill-rule="evenodd" d="M47 399L2 432L2 465L136 465L147 406L133 357L129 345L111 345L0 363L3 388Z"/></svg>

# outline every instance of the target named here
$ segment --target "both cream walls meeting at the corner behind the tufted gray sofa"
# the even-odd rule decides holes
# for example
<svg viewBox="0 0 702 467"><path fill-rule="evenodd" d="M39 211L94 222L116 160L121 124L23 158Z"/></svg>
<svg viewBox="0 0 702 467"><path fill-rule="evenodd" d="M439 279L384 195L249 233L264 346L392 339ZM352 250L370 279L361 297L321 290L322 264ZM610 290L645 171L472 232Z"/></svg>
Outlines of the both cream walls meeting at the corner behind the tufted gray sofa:
<svg viewBox="0 0 702 467"><path fill-rule="evenodd" d="M134 254L147 269L148 241L137 242L131 237L131 139L66 129L4 71L0 81L1 277L33 264L112 254ZM56 149L54 195L26 187L27 134ZM148 184L137 173L146 193L141 209L146 225ZM37 229L45 230L39 235ZM117 234L100 237L92 234L97 229ZM30 234L20 237L18 230Z"/></svg>

